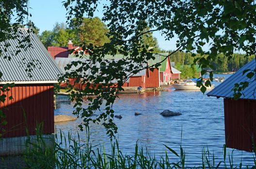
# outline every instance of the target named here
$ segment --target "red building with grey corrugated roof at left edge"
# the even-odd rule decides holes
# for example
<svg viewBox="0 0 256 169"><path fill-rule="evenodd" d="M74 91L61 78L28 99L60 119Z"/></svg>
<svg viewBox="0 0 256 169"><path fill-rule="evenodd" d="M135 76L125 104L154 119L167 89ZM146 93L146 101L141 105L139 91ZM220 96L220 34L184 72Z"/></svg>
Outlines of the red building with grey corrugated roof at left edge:
<svg viewBox="0 0 256 169"><path fill-rule="evenodd" d="M26 30L20 33L19 37L25 37L28 34ZM61 74L58 66L48 54L44 45L39 41L36 35L30 34L32 47L26 51L23 48L17 48L18 42L22 39L8 40L10 46L7 51L3 51L3 56L10 56L15 50L20 52L11 60L0 57L0 72L3 73L0 80L0 87L7 83L14 83L15 86L10 91L0 93L5 94L6 100L0 102L0 109L6 114L2 120L7 121L7 125L2 125L3 140L0 140L0 155L6 153L11 144L11 138L22 143L25 141L23 136L35 135L36 126L42 125L42 134L54 133L54 99L53 84L57 83L58 74ZM0 45L4 45L1 42ZM28 60L37 60L37 63L30 77L26 70ZM22 63L26 62L24 65ZM8 99L9 97L13 99ZM26 128L28 130L26 130ZM27 133L28 131L28 133ZM1 151L1 146L5 146ZM24 148L24 147L23 147ZM9 152L8 152L9 151ZM8 150L7 153L20 153Z"/></svg>

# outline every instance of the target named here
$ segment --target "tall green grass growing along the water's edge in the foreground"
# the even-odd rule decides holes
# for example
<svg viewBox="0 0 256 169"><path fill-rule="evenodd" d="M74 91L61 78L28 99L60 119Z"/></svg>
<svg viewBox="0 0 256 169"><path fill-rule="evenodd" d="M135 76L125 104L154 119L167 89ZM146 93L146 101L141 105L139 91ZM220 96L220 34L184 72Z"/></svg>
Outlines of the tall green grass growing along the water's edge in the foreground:
<svg viewBox="0 0 256 169"><path fill-rule="evenodd" d="M127 155L119 149L118 141L112 143L111 152L106 153L104 146L93 146L90 138L86 142L80 140L79 133L74 137L67 136L60 131L55 135L54 147L46 145L45 138L37 133L37 141L27 141L23 154L27 169L187 169L186 153L180 146L179 152L167 145L166 151L160 157L150 154L147 147L139 147L136 142L134 155ZM254 147L255 148L255 147ZM202 164L193 166L194 169L251 169L254 166L239 166L233 164L233 153L227 155L226 146L223 147L223 159L216 161L214 154L208 149L202 150ZM171 156L172 158L171 158ZM173 158L176 156L177 158ZM171 160L173 159L173 160ZM256 158L254 154L254 164Z"/></svg>

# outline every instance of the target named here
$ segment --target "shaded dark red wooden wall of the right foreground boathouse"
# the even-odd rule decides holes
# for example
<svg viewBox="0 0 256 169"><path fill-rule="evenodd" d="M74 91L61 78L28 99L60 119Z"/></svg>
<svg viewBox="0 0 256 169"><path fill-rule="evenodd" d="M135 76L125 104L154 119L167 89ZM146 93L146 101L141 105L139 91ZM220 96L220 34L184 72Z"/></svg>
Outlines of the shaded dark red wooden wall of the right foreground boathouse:
<svg viewBox="0 0 256 169"><path fill-rule="evenodd" d="M256 100L224 99L224 116L226 146L253 151L252 138L256 143Z"/></svg>

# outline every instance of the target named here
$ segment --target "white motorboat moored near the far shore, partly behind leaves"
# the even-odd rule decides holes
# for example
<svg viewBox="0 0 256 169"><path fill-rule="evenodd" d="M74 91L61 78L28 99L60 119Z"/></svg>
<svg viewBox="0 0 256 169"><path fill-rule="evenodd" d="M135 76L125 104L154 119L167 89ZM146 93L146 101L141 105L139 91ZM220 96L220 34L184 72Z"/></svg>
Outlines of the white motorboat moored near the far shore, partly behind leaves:
<svg viewBox="0 0 256 169"><path fill-rule="evenodd" d="M196 86L196 83L194 83L191 79L187 79L184 82L181 82L179 84L173 84L173 87L176 90L200 90L200 87ZM206 86L207 90L213 89L214 86Z"/></svg>

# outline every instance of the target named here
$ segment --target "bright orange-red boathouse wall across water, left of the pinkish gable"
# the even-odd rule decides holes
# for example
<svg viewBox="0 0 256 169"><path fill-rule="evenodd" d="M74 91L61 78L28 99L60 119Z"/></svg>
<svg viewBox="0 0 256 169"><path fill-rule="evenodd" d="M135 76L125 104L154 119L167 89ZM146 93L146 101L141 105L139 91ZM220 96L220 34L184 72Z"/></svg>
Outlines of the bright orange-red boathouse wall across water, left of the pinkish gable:
<svg viewBox="0 0 256 169"><path fill-rule="evenodd" d="M159 69L146 70L145 87L160 87L159 82Z"/></svg>

